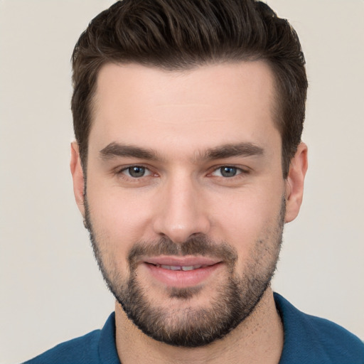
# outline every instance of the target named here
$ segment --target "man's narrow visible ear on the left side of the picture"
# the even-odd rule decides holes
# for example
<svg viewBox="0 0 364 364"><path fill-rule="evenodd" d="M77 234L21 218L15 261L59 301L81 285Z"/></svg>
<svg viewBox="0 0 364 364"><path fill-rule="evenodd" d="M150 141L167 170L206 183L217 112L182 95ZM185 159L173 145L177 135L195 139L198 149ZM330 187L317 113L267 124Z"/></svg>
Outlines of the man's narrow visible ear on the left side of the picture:
<svg viewBox="0 0 364 364"><path fill-rule="evenodd" d="M80 160L80 150L76 141L71 143L71 161L70 169L73 178L73 193L75 194L75 200L80 210L80 213L85 217L85 205L83 192L85 188L85 179L83 176L83 170Z"/></svg>

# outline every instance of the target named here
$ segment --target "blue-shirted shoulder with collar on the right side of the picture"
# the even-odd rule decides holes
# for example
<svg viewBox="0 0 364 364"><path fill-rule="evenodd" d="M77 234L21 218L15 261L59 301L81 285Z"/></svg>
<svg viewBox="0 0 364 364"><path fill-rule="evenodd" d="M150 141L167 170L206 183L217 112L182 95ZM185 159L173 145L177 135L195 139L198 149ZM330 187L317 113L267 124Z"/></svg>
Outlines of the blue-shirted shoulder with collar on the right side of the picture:
<svg viewBox="0 0 364 364"><path fill-rule="evenodd" d="M274 299L284 326L281 363L364 364L364 344L353 333L332 321L304 314L279 294Z"/></svg>

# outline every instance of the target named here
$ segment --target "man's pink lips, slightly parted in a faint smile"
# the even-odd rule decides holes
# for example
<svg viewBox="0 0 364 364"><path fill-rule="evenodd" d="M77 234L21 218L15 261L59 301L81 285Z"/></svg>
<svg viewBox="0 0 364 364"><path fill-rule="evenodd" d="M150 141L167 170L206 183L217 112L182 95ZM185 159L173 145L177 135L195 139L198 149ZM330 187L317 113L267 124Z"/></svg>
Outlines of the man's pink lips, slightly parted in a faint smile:
<svg viewBox="0 0 364 364"><path fill-rule="evenodd" d="M201 266L193 270L171 270L161 265L174 267ZM223 262L208 257L150 257L141 262L147 274L164 287L187 288L196 287L210 279L220 269Z"/></svg>

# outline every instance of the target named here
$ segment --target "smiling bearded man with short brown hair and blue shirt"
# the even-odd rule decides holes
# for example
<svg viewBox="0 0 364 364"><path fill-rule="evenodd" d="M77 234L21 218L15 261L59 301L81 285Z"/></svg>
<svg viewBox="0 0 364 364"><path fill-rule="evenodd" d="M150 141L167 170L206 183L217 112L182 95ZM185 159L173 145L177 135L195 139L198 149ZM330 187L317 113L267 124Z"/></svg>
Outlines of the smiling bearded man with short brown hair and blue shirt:
<svg viewBox="0 0 364 364"><path fill-rule="evenodd" d="M364 363L270 282L301 205L307 80L266 4L124 0L73 53L75 198L117 299L29 363Z"/></svg>

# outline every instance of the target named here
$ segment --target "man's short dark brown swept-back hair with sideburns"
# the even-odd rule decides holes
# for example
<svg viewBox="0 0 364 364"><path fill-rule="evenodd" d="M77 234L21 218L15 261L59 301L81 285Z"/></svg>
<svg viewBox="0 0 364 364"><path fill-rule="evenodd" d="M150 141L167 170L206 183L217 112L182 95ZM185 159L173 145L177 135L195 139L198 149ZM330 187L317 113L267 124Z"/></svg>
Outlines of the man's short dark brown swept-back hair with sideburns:
<svg viewBox="0 0 364 364"><path fill-rule="evenodd" d="M275 122L287 177L301 141L307 78L299 38L286 19L254 0L123 0L96 16L73 51L72 112L85 169L92 97L105 63L139 63L166 70L264 60L277 89Z"/></svg>

